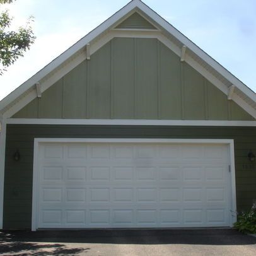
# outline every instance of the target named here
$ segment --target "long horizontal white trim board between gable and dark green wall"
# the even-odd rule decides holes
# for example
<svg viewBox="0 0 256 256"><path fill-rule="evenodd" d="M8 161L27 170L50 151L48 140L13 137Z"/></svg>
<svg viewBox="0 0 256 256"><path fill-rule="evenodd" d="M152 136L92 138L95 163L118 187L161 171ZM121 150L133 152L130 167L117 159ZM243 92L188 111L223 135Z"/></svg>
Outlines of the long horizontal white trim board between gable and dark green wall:
<svg viewBox="0 0 256 256"><path fill-rule="evenodd" d="M146 119L5 119L6 124L55 124L55 125L176 125L176 126L248 126L256 121L230 120L146 120Z"/></svg>

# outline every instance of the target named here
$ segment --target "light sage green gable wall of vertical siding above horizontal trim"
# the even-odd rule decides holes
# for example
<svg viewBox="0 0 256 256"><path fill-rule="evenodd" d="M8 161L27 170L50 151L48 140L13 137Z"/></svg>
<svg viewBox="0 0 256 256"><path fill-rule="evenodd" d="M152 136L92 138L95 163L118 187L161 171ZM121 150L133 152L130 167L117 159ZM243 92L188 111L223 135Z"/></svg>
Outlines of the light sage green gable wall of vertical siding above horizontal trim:
<svg viewBox="0 0 256 256"><path fill-rule="evenodd" d="M153 38L114 38L13 117L254 120Z"/></svg>

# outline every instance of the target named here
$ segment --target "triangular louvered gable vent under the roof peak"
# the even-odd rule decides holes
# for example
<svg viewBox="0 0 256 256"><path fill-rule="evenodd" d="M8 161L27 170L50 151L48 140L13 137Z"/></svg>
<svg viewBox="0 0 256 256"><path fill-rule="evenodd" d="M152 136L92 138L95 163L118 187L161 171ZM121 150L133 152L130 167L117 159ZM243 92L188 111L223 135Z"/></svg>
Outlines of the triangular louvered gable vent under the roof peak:
<svg viewBox="0 0 256 256"><path fill-rule="evenodd" d="M122 21L115 28L117 29L133 29L133 30L158 30L149 21L147 21L139 13L133 13L126 20Z"/></svg>

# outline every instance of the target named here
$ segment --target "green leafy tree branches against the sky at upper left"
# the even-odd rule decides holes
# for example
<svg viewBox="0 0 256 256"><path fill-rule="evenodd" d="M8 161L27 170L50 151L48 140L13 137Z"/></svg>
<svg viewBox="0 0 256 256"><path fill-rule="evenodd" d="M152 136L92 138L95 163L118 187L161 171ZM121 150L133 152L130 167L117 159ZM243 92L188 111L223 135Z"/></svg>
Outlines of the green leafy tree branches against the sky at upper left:
<svg viewBox="0 0 256 256"><path fill-rule="evenodd" d="M0 8L3 4L11 4L16 0L0 0ZM32 28L30 26L33 17L30 16L25 26L20 26L18 31L9 30L13 17L8 11L0 13L0 76L6 71L6 67L13 64L19 57L22 57L26 50L35 41Z"/></svg>

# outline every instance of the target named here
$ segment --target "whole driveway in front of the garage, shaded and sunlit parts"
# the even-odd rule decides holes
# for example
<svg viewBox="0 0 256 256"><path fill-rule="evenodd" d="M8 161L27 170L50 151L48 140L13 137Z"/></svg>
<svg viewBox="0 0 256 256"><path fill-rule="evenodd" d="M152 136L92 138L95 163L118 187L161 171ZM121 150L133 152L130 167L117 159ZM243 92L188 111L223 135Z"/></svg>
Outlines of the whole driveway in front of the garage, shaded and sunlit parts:
<svg viewBox="0 0 256 256"><path fill-rule="evenodd" d="M236 230L2 231L0 255L256 255Z"/></svg>

